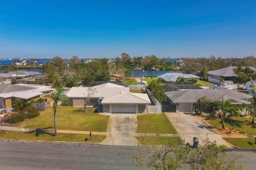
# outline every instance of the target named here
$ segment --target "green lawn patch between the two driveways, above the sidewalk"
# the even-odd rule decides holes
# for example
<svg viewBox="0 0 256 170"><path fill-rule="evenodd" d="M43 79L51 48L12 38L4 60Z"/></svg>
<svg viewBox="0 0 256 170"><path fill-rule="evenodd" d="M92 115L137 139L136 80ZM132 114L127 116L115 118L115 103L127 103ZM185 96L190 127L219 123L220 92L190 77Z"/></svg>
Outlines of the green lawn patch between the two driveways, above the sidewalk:
<svg viewBox="0 0 256 170"><path fill-rule="evenodd" d="M137 133L177 133L164 113L138 115Z"/></svg>

